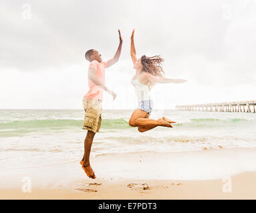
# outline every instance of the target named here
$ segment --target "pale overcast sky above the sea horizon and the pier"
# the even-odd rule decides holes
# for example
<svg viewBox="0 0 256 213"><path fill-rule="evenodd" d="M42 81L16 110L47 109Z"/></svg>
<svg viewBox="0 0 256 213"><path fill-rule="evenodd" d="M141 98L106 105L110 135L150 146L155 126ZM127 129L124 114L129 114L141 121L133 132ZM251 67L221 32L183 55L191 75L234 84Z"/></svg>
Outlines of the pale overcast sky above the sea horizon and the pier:
<svg viewBox="0 0 256 213"><path fill-rule="evenodd" d="M138 57L161 55L155 108L256 100L256 1L76 0L0 2L0 108L82 108L88 49L107 61L103 107L136 108L130 35Z"/></svg>

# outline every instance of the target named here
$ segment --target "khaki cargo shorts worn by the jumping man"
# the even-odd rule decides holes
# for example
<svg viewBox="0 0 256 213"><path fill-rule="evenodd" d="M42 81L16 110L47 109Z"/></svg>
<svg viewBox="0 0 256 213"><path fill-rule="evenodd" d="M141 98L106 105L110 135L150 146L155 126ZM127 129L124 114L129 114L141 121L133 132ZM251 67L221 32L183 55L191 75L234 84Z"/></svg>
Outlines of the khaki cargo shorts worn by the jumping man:
<svg viewBox="0 0 256 213"><path fill-rule="evenodd" d="M83 129L91 132L99 132L102 124L102 102L100 100L83 99L84 124Z"/></svg>

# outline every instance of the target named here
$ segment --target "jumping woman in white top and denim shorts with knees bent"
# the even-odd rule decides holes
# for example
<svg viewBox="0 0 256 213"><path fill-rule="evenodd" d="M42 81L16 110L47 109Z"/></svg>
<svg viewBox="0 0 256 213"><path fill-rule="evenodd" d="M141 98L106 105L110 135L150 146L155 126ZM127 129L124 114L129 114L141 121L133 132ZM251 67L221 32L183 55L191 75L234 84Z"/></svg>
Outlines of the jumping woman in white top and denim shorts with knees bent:
<svg viewBox="0 0 256 213"><path fill-rule="evenodd" d="M142 55L142 57L137 60L134 47L134 30L131 36L130 55L134 69L136 70L136 74L132 78L132 85L134 86L138 99L138 108L132 112L129 121L130 126L137 126L140 132L146 132L156 126L172 128L171 123L175 122L168 118L162 117L158 120L149 119L153 107L153 101L150 99L149 91L156 83L184 83L186 81L162 77L164 71L162 70L161 63L164 60L158 55L154 57Z"/></svg>

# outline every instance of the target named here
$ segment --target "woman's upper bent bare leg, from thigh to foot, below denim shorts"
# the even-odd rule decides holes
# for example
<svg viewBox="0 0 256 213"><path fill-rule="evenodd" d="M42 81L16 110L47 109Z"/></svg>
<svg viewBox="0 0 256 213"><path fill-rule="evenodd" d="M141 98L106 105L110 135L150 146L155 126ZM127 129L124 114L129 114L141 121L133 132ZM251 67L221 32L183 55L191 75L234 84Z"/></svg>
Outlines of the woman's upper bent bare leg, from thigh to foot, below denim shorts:
<svg viewBox="0 0 256 213"><path fill-rule="evenodd" d="M162 118L159 118L158 120L146 118L147 113L148 112L136 108L134 112L132 112L132 116L130 117L130 126L150 126L150 128L153 128L152 126L172 127L169 122L163 120Z"/></svg>

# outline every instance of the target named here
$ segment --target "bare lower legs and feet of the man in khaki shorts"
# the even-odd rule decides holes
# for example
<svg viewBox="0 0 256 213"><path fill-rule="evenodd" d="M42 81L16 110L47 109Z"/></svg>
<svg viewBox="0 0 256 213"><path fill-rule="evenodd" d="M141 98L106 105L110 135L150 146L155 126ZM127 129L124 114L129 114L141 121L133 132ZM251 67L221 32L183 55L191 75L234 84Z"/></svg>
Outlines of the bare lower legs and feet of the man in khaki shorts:
<svg viewBox="0 0 256 213"><path fill-rule="evenodd" d="M92 170L92 167L90 166L90 152L92 148L92 141L94 140L94 135L96 133L91 132L88 130L86 139L84 140L84 158L82 159L83 164L82 167L84 171L86 172L87 176L89 178L96 178L94 174L94 170Z"/></svg>

